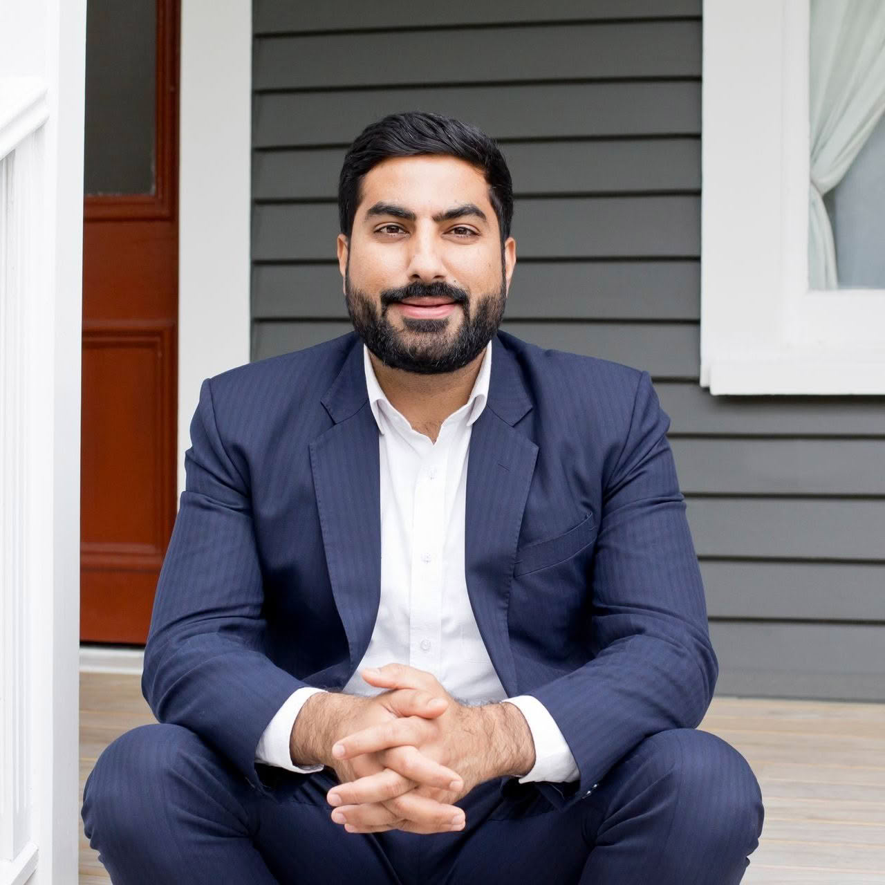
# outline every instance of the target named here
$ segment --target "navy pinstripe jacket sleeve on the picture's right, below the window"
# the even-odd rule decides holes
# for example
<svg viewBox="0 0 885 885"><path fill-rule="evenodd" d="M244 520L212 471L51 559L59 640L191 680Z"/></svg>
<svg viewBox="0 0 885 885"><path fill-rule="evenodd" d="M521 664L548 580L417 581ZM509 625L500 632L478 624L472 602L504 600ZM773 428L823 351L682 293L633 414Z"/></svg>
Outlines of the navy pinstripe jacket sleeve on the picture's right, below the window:
<svg viewBox="0 0 885 885"><path fill-rule="evenodd" d="M574 784L540 788L558 807L589 796L645 737L696 727L712 700L719 664L669 427L640 373L589 568L595 656L526 692L556 720L580 769Z"/></svg>

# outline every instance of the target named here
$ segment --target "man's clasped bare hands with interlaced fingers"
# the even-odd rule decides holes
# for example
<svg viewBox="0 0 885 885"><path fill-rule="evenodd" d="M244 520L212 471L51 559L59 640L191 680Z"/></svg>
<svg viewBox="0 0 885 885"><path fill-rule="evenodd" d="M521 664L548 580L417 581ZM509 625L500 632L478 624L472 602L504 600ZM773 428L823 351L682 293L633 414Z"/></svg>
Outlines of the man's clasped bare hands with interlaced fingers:
<svg viewBox="0 0 885 885"><path fill-rule="evenodd" d="M348 832L463 829L459 799L482 781L534 766L531 732L512 704L458 704L431 673L402 664L361 675L388 690L350 704L335 729L342 736L326 764L340 783L327 801Z"/></svg>

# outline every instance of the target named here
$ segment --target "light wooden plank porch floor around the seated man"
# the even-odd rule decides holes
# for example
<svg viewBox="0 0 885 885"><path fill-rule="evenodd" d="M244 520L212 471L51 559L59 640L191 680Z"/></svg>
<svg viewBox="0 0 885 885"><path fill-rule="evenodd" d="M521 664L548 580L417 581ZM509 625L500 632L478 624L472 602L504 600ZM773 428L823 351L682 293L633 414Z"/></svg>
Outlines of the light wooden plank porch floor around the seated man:
<svg viewBox="0 0 885 885"><path fill-rule="evenodd" d="M152 721L137 676L81 674L81 803L104 747ZM885 885L885 704L717 697L699 727L740 750L762 787L743 883ZM80 881L110 881L82 820Z"/></svg>

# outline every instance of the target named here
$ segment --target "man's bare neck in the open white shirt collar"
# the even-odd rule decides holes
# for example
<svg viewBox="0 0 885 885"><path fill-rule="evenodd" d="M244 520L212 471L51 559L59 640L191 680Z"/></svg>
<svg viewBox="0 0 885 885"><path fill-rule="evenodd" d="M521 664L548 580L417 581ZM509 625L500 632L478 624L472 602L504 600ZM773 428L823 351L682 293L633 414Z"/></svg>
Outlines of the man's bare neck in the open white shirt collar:
<svg viewBox="0 0 885 885"><path fill-rule="evenodd" d="M369 359L372 360L378 384L390 404L414 430L435 442L443 421L470 398L485 353L483 348L478 357L454 372L433 375L385 366L371 350Z"/></svg>

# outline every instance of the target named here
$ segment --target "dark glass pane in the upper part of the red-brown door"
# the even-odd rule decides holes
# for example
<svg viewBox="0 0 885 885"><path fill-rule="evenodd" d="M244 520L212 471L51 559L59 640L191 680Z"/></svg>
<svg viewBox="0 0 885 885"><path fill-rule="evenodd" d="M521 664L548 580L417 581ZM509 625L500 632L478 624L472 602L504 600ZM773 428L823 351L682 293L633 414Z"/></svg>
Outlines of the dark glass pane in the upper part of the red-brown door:
<svg viewBox="0 0 885 885"><path fill-rule="evenodd" d="M89 0L84 191L153 194L156 0Z"/></svg>

